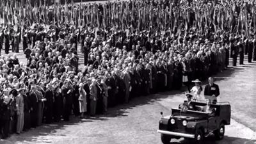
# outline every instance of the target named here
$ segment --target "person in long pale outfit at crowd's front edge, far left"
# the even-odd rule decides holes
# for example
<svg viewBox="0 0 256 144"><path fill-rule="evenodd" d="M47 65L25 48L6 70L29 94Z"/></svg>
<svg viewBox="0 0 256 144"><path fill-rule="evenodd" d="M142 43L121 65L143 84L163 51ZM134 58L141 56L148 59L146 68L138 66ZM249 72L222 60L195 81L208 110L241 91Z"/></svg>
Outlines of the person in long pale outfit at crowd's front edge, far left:
<svg viewBox="0 0 256 144"><path fill-rule="evenodd" d="M15 97L16 100L16 108L17 108L17 134L20 134L22 132L24 127L24 88L20 88L18 90L19 95Z"/></svg>

